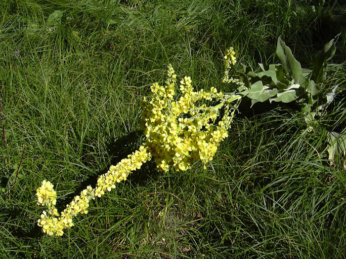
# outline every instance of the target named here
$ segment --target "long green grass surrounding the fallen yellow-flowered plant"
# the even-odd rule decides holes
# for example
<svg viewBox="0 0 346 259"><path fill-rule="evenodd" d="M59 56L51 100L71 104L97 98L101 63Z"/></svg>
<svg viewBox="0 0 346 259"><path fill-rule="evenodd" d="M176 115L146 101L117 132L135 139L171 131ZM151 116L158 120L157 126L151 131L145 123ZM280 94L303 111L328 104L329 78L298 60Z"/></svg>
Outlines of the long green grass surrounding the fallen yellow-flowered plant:
<svg viewBox="0 0 346 259"><path fill-rule="evenodd" d="M244 106L206 170L151 162L64 236L37 226L43 179L63 208L140 145L140 101L168 63L227 91L223 51L271 63L281 36L308 67L343 15L308 2L2 1L0 258L344 258L345 170L326 152L326 129L345 129L343 95L313 134L297 111ZM328 68L342 89L345 42Z"/></svg>

